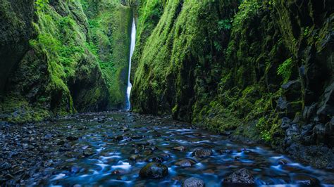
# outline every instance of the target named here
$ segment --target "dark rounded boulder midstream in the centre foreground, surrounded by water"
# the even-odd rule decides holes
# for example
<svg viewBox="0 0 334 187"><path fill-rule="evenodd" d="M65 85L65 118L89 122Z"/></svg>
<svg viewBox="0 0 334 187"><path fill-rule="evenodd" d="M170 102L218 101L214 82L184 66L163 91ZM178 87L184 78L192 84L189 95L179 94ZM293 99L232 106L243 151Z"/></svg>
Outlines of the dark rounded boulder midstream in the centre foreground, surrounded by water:
<svg viewBox="0 0 334 187"><path fill-rule="evenodd" d="M168 175L168 167L156 162L151 162L140 169L140 177L159 179Z"/></svg>

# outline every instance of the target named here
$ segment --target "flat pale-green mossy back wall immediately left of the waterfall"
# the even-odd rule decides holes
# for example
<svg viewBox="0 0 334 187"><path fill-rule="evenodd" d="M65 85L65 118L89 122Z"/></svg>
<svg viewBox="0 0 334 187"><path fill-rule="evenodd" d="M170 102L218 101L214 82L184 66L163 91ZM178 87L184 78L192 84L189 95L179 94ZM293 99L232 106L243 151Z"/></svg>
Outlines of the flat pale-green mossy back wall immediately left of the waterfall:
<svg viewBox="0 0 334 187"><path fill-rule="evenodd" d="M86 46L99 62L106 79L112 106L125 105L130 51L132 11L115 0L82 0L89 22L89 42Z"/></svg>

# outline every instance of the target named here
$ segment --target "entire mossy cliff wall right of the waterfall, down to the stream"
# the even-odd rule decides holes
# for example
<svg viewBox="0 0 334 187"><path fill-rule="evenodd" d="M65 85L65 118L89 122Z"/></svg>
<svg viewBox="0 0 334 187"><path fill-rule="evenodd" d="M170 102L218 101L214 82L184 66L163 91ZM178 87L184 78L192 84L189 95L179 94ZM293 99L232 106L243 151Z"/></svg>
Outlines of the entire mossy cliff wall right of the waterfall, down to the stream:
<svg viewBox="0 0 334 187"><path fill-rule="evenodd" d="M169 113L330 167L332 2L167 1L163 10L147 40L137 39L135 111Z"/></svg>

